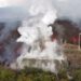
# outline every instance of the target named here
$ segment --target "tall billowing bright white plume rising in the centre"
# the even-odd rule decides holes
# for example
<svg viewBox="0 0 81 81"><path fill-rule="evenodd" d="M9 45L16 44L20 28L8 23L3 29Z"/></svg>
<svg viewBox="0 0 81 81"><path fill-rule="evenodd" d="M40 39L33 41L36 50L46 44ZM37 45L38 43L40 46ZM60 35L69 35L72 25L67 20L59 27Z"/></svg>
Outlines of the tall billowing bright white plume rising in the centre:
<svg viewBox="0 0 81 81"><path fill-rule="evenodd" d="M26 6L29 15L18 28L22 36L17 39L17 42L24 42L25 46L17 57L17 67L31 66L56 72L55 62L60 64L65 58L58 41L51 41L53 32L49 25L57 18L53 1L29 0Z"/></svg>

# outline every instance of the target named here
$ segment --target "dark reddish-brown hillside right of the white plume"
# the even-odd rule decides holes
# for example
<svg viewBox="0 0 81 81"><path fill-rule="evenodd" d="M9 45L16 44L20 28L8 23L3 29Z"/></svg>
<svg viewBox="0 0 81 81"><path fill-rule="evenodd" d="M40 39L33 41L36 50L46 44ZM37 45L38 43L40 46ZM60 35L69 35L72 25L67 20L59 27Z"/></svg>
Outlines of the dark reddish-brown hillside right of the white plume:
<svg viewBox="0 0 81 81"><path fill-rule="evenodd" d="M67 19L57 19L53 25L54 35L56 33L69 43L78 44L80 27Z"/></svg>

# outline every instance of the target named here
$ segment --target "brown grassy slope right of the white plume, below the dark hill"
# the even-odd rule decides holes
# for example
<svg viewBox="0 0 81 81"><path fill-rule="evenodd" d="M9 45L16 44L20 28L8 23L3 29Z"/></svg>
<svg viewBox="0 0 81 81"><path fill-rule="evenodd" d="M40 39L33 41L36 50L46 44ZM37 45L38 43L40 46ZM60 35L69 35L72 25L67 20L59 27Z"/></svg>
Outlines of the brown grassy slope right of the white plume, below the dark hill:
<svg viewBox="0 0 81 81"><path fill-rule="evenodd" d="M78 49L78 45L65 44L65 55L70 68L81 68L81 50Z"/></svg>

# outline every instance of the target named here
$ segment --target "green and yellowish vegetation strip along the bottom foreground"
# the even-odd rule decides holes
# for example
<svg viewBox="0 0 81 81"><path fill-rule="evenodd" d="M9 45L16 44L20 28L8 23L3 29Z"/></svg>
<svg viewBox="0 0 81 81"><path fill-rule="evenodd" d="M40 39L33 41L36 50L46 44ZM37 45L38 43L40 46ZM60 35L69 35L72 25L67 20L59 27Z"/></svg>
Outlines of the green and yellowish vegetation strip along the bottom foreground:
<svg viewBox="0 0 81 81"><path fill-rule="evenodd" d="M0 81L81 81L81 69L71 70L70 80L65 69L57 75L36 68L25 68L23 70L11 70L0 66Z"/></svg>

